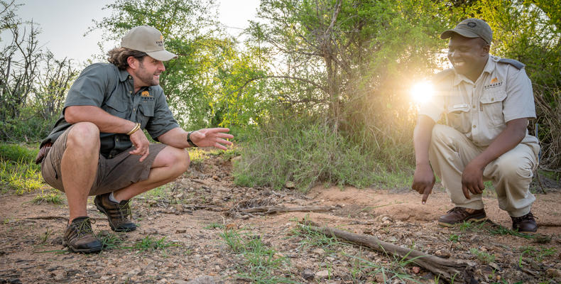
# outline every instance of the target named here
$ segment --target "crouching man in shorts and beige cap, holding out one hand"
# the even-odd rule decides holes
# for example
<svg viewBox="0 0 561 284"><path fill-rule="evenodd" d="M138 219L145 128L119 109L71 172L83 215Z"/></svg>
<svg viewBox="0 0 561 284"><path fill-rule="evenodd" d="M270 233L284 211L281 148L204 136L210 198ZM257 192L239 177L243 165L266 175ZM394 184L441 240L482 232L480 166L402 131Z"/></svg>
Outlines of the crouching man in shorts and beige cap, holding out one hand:
<svg viewBox="0 0 561 284"><path fill-rule="evenodd" d="M65 192L70 217L64 243L71 251L94 252L102 244L93 234L86 202L107 215L114 231L133 231L129 200L175 180L189 167L187 147L232 143L229 129L187 132L173 119L158 85L163 61L177 58L164 48L160 31L132 28L110 63L82 71L67 94L53 131L41 142L36 162L49 185ZM143 130L160 143L149 143Z"/></svg>

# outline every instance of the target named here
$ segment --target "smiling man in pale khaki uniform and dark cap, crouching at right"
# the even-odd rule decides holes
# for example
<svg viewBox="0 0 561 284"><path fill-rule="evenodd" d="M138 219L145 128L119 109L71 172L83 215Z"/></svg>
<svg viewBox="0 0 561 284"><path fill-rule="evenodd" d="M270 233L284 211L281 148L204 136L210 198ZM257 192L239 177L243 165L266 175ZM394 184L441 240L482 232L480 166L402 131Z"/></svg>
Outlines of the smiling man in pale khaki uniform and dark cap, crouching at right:
<svg viewBox="0 0 561 284"><path fill-rule="evenodd" d="M425 204L434 170L455 204L438 222L453 226L486 219L481 192L491 180L513 229L535 232L529 185L540 146L526 129L535 119L532 84L521 62L489 55L492 37L491 27L476 18L440 35L450 38L453 68L435 75L435 96L421 106L412 188ZM437 124L442 114L446 125Z"/></svg>

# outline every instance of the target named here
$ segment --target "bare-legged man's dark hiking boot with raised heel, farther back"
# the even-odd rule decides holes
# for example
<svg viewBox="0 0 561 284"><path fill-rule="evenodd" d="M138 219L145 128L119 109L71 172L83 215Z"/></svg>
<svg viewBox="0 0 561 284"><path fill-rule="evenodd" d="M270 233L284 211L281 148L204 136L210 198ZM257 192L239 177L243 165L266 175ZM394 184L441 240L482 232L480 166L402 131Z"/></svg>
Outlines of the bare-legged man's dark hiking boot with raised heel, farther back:
<svg viewBox="0 0 561 284"><path fill-rule="evenodd" d="M109 226L113 231L134 231L136 225L131 222L131 206L129 200L122 200L119 203L109 200L110 193L97 195L94 203L95 207L107 215Z"/></svg>

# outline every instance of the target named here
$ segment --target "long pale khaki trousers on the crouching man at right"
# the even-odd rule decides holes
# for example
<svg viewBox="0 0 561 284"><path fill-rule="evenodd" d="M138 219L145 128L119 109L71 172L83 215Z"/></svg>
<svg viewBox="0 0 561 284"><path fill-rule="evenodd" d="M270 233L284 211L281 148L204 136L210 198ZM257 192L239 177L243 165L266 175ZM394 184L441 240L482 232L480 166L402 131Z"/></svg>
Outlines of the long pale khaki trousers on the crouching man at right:
<svg viewBox="0 0 561 284"><path fill-rule="evenodd" d="M474 145L463 133L450 126L436 124L432 129L429 159L446 187L450 199L458 207L482 209L481 195L470 199L462 192L462 172L465 166L485 148ZM491 180L495 187L499 208L512 217L521 217L530 212L535 197L529 187L533 170L538 166L540 146L537 143L520 143L487 165L483 180Z"/></svg>

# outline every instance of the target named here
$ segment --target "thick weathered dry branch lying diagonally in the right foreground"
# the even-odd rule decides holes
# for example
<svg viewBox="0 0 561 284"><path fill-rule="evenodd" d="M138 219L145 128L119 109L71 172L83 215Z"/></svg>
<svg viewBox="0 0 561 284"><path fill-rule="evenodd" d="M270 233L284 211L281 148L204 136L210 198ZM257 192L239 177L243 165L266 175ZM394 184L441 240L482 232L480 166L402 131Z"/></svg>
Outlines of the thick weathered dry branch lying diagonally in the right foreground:
<svg viewBox="0 0 561 284"><path fill-rule="evenodd" d="M329 228L329 227L319 227L312 222L306 222L311 224L310 229L316 231L320 234L325 234L326 236L335 236L339 239L344 239L353 244L359 244L361 246L369 247L374 251L380 251L382 253L392 253L405 260L412 261L418 266L421 266L435 275L440 275L440 278L444 278L447 282L454 283L470 283L473 278L474 266L476 263L472 261L464 261L459 259L446 259L440 258L438 256L432 256L428 253L423 253L422 251L415 251L414 249L405 249L401 246L396 246L395 244L386 243L376 238L376 236L367 236L350 233L348 231L342 231L339 229Z"/></svg>

